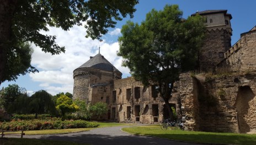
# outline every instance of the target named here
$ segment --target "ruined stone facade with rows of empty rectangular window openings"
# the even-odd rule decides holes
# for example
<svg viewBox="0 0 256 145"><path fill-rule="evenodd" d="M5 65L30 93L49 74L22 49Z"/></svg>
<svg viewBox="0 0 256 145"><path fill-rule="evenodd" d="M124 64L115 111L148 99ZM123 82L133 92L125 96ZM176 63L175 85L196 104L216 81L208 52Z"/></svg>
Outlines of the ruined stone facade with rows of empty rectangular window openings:
<svg viewBox="0 0 256 145"><path fill-rule="evenodd" d="M152 97L151 86L145 87L141 82L129 77L114 80L112 91L116 92L116 101L111 104L111 108L115 108L119 122L162 121L163 100L160 97Z"/></svg>

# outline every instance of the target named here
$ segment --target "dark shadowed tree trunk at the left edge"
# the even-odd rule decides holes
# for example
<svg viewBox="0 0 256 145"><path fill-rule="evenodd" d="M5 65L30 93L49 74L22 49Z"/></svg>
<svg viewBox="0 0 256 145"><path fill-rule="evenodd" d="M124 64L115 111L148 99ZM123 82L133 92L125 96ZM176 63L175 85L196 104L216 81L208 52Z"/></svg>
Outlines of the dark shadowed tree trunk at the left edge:
<svg viewBox="0 0 256 145"><path fill-rule="evenodd" d="M0 0L0 85L4 81L7 49L11 42L12 17L17 0Z"/></svg>

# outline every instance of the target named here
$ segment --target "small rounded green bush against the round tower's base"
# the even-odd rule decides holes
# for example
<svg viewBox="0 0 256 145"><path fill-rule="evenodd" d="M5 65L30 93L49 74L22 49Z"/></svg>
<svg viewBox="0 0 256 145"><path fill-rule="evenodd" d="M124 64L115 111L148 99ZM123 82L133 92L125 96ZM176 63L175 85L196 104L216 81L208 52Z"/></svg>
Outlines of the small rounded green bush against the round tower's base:
<svg viewBox="0 0 256 145"><path fill-rule="evenodd" d="M95 117L97 120L100 116L108 112L108 104L98 102L90 106L90 111L92 111L92 117Z"/></svg>

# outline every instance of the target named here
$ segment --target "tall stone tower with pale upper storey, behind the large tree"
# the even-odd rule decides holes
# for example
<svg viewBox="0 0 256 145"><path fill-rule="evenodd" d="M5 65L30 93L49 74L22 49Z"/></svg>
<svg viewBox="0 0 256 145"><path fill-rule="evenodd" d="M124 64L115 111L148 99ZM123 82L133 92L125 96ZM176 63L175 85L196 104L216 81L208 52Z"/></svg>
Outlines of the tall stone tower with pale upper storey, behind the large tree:
<svg viewBox="0 0 256 145"><path fill-rule="evenodd" d="M212 71L224 58L224 53L231 47L231 14L227 10L205 10L196 12L205 17L206 39L199 54L200 71Z"/></svg>

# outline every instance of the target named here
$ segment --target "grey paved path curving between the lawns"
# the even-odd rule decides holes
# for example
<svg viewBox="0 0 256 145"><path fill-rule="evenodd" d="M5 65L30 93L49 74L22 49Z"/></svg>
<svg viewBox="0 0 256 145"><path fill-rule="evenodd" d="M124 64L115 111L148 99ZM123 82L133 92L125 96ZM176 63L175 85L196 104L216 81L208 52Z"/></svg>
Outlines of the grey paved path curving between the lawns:
<svg viewBox="0 0 256 145"><path fill-rule="evenodd" d="M67 133L62 135L25 135L24 138L40 138L40 139L54 139L58 141L72 141L79 143L89 143L93 145L136 145L136 144L177 144L188 145L193 143L170 141L169 139L135 136L123 132L120 129L128 126L103 127L95 128L90 131ZM195 144L194 144L195 145Z"/></svg>

